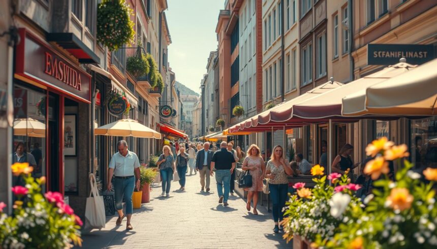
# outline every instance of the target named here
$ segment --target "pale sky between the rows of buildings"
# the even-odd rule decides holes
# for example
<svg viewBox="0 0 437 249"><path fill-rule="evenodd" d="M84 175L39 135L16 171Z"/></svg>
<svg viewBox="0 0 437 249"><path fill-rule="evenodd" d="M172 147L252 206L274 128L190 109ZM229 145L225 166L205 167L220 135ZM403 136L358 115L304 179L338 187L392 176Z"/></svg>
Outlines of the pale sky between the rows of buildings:
<svg viewBox="0 0 437 249"><path fill-rule="evenodd" d="M209 52L217 49L215 26L225 0L168 0L172 44L168 61L176 81L200 93Z"/></svg>

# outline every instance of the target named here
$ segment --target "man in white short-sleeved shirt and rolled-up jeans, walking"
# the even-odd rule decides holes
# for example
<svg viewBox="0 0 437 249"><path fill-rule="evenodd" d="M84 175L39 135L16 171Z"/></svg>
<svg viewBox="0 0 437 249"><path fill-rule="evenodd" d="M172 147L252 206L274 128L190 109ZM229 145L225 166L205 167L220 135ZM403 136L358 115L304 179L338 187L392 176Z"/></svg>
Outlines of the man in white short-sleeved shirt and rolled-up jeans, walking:
<svg viewBox="0 0 437 249"><path fill-rule="evenodd" d="M111 180L112 176L114 176L115 208L118 212L118 219L115 224L117 226L121 225L121 221L124 218L123 204L121 203L124 197L124 200L126 200L126 215L128 217L126 230L132 230L132 194L135 187L137 189L140 188L140 162L137 154L128 150L128 143L125 140L118 141L117 149L118 152L112 155L109 162L108 190L111 191ZM135 181L135 178L137 181Z"/></svg>

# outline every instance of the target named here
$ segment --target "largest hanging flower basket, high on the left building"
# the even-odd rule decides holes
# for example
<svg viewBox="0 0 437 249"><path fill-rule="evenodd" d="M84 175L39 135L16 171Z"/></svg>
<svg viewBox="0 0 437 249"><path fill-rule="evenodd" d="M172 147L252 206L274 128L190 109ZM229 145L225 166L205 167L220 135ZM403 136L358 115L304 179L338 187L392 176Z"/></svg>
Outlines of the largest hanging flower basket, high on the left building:
<svg viewBox="0 0 437 249"><path fill-rule="evenodd" d="M132 9L125 0L102 0L97 9L97 41L110 51L134 42Z"/></svg>

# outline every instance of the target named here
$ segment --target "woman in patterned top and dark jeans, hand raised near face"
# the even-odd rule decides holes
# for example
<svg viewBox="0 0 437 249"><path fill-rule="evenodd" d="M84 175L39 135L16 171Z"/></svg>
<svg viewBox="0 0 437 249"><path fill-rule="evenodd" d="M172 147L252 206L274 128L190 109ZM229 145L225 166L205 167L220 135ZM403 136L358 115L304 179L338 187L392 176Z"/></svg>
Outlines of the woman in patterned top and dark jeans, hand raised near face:
<svg viewBox="0 0 437 249"><path fill-rule="evenodd" d="M281 226L279 228L278 222L284 219L284 212L282 209L285 206L285 202L288 195L288 179L287 175L293 174L293 170L286 163L283 157L283 149L281 146L275 146L273 148L273 154L270 161L266 166L266 178L269 179L270 198L272 199L273 207L273 231L278 233L279 230L283 230Z"/></svg>

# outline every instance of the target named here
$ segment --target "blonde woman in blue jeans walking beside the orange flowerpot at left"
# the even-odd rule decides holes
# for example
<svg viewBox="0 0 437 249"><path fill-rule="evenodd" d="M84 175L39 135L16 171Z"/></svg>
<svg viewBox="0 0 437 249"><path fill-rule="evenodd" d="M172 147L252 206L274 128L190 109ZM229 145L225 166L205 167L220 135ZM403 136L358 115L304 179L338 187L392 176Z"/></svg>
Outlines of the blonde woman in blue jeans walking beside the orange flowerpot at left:
<svg viewBox="0 0 437 249"><path fill-rule="evenodd" d="M163 154L158 159L158 167L160 169L161 177L163 180L161 195L170 196L170 184L173 180L173 172L175 170L173 153L169 146L163 147Z"/></svg>

